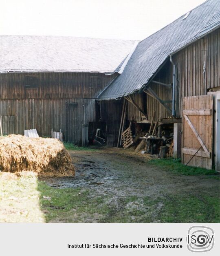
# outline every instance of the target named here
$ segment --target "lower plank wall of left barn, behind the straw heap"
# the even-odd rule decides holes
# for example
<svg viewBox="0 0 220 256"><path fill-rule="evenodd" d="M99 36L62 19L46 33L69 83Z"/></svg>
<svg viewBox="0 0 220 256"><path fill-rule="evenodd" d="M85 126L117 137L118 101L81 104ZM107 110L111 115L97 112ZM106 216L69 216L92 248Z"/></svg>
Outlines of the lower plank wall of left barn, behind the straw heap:
<svg viewBox="0 0 220 256"><path fill-rule="evenodd" d="M66 124L66 103L77 103L77 127ZM0 100L0 115L15 118L15 134L24 134L24 130L37 128L40 136L50 136L51 129L64 132L73 130L74 143L81 143L82 125L95 121L95 99L8 99ZM77 128L77 131L75 130ZM8 130L7 134L11 131Z"/></svg>

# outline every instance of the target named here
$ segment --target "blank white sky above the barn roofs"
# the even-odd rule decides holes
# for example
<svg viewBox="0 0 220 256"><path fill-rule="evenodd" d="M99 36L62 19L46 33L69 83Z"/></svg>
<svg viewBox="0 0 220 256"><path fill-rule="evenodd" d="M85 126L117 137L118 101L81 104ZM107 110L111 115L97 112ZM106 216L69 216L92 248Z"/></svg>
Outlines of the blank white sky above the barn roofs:
<svg viewBox="0 0 220 256"><path fill-rule="evenodd" d="M0 0L0 34L142 40L202 2Z"/></svg>

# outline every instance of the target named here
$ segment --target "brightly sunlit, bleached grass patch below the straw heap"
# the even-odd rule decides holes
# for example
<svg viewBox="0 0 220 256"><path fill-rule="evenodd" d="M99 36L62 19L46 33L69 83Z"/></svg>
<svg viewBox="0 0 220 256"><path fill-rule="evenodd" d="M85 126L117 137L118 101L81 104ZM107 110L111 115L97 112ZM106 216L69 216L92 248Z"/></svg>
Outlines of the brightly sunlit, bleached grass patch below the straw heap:
<svg viewBox="0 0 220 256"><path fill-rule="evenodd" d="M19 175L0 172L0 222L44 222L36 174Z"/></svg>

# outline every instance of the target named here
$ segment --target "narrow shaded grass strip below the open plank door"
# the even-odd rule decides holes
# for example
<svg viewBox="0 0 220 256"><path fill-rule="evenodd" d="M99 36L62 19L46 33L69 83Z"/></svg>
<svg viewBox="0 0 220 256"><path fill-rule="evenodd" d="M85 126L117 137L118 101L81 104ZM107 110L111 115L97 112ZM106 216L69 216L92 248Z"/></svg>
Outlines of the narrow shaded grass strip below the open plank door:
<svg viewBox="0 0 220 256"><path fill-rule="evenodd" d="M215 170L207 170L199 167L185 166L181 163L180 159L152 159L149 161L155 166L160 167L162 170L169 170L176 174L183 175L216 175L218 172ZM213 176L218 177L218 176Z"/></svg>

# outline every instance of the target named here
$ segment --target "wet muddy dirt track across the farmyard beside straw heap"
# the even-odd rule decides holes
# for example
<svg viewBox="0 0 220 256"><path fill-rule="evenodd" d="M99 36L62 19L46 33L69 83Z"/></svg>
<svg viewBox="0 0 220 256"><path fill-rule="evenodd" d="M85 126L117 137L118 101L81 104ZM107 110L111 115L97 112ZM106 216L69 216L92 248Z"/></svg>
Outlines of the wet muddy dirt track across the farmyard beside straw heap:
<svg viewBox="0 0 220 256"><path fill-rule="evenodd" d="M219 181L203 176L183 176L160 170L145 157L117 148L100 151L69 151L76 168L73 179L47 179L58 188L96 188L95 194L157 197L167 193L207 190ZM95 196L94 194L94 196Z"/></svg>

